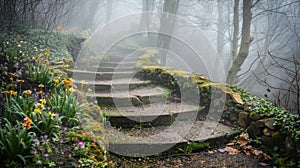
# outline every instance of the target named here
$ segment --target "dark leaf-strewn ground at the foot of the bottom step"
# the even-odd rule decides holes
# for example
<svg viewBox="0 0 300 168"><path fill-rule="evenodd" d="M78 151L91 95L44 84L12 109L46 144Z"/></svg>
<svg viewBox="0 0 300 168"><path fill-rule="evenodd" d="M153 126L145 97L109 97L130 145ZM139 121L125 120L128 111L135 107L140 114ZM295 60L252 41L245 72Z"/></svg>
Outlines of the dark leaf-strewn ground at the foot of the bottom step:
<svg viewBox="0 0 300 168"><path fill-rule="evenodd" d="M167 157L125 158L111 154L116 168L270 168L272 165L242 153L199 151L193 154L177 154Z"/></svg>

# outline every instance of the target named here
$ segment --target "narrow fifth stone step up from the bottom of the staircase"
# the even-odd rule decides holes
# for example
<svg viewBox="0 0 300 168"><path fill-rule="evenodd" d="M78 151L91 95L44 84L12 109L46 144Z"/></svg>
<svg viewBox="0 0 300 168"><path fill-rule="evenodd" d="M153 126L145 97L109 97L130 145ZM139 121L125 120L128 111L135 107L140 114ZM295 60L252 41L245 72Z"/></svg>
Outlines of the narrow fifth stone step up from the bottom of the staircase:
<svg viewBox="0 0 300 168"><path fill-rule="evenodd" d="M112 80L112 79L124 79L132 77L134 71L126 72L92 72L85 70L70 70L68 76L74 80Z"/></svg>

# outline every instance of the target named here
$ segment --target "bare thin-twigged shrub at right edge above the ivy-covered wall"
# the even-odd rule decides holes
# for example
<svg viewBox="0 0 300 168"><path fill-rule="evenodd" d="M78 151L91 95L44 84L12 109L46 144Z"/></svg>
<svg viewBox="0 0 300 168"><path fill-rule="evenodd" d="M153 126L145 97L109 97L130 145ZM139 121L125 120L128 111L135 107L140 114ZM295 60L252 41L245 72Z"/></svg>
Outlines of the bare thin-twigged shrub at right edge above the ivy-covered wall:
<svg viewBox="0 0 300 168"><path fill-rule="evenodd" d="M296 56L281 58L270 52L268 55L271 61L267 65L260 57L267 78L262 80L255 74L257 80L268 88L268 92L275 98L273 100L276 105L300 114L300 59ZM278 86L272 80L281 84Z"/></svg>

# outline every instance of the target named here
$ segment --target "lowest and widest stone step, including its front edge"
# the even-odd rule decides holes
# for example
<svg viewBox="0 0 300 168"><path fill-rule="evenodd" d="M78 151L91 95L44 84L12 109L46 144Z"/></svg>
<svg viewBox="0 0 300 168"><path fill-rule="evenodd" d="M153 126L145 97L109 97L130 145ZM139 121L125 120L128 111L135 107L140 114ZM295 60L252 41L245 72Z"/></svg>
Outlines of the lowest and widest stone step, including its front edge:
<svg viewBox="0 0 300 168"><path fill-rule="evenodd" d="M179 121L171 126L118 129L106 126L109 151L123 156L149 156L167 152L191 142L226 143L239 130L216 121ZM138 156L137 156L138 155Z"/></svg>

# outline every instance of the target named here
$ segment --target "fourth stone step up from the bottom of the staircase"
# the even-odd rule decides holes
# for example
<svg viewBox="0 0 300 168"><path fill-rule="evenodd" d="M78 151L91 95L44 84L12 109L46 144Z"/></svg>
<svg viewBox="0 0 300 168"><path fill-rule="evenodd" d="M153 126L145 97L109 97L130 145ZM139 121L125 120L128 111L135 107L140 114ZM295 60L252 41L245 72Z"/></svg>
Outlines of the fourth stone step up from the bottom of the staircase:
<svg viewBox="0 0 300 168"><path fill-rule="evenodd" d="M113 80L96 80L96 81L85 81L86 84L82 87L82 81L75 80L74 84L77 88L87 89L94 88L95 92L110 93L113 91L132 90L141 86L147 86L151 81L144 81L139 79L130 78L117 78Z"/></svg>

